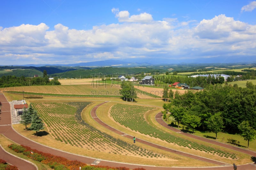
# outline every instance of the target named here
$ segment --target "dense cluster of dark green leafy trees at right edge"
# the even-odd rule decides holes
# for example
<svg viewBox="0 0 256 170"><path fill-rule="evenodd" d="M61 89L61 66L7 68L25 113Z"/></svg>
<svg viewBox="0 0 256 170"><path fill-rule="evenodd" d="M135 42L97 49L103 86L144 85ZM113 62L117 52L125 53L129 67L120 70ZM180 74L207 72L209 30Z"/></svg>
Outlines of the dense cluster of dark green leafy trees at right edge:
<svg viewBox="0 0 256 170"><path fill-rule="evenodd" d="M188 90L184 94L177 91L174 96L163 107L171 112L178 125L182 122L193 129L212 131L216 138L220 131L246 134L256 129L256 86L251 82L247 82L246 88L236 84L210 85L204 91ZM241 125L243 121L247 123ZM250 134L254 134L253 130ZM255 134L252 136L250 140ZM248 136L244 139L248 140Z"/></svg>

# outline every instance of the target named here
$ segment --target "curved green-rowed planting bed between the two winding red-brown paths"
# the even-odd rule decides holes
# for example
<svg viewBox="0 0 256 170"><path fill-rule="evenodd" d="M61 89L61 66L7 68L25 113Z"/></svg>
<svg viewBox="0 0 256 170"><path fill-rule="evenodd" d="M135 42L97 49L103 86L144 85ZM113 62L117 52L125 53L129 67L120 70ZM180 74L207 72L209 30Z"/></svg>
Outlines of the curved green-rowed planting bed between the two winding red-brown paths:
<svg viewBox="0 0 256 170"><path fill-rule="evenodd" d="M150 126L144 117L145 113L150 109L154 109L154 107L118 103L111 107L110 115L116 122L119 122L121 125L124 125L125 127L128 127L131 130L138 131L142 134L149 135L150 137L159 138L168 143L179 145L180 147L186 147L189 149L194 149L196 151L205 152L212 155L218 155L220 157L238 159L235 153L227 153L210 146L197 144L190 140L172 136L169 133L165 133L159 129Z"/></svg>

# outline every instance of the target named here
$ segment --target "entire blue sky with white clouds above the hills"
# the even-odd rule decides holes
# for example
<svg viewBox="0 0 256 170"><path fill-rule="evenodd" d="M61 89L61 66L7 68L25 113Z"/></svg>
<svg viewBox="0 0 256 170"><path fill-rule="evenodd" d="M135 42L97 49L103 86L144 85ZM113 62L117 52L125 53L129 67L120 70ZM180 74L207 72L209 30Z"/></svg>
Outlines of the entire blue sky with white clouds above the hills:
<svg viewBox="0 0 256 170"><path fill-rule="evenodd" d="M0 65L256 61L256 1L2 0Z"/></svg>

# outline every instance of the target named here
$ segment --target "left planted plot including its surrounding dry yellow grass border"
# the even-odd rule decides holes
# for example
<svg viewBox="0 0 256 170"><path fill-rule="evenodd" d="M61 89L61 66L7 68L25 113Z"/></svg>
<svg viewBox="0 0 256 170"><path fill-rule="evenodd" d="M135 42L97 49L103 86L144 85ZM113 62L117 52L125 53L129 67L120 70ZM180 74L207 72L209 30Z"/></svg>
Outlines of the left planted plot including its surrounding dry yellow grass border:
<svg viewBox="0 0 256 170"><path fill-rule="evenodd" d="M68 101L64 99L61 102L61 100L63 99L54 100L57 102L51 102L51 100L41 100L40 102L34 100L32 102L45 122L44 131L49 135L35 137L32 135L33 132L25 131L24 125L21 124L15 125L14 128L37 142L99 159L156 166L186 166L187 162L191 162L190 166L213 166L199 160L157 150L145 144L136 143L135 145L132 139L127 139L102 128L90 117L90 111L95 106L95 101ZM104 105L100 108L107 111ZM154 109L154 107L147 106L140 106L139 108L145 114L148 110Z"/></svg>

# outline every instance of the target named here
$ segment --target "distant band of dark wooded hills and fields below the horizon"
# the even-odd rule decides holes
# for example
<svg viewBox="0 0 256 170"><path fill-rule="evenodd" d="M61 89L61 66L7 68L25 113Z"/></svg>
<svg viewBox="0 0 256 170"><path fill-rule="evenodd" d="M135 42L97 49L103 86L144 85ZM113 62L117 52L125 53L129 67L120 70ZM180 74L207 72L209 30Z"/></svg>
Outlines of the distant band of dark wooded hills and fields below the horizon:
<svg viewBox="0 0 256 170"><path fill-rule="evenodd" d="M129 75L137 73L147 74L180 74L196 75L196 74L227 74L232 76L243 75L255 78L256 64L175 64L175 65L152 65L140 67L71 67L71 66L0 66L0 77L16 76L16 77L34 77L38 75L43 77L43 71L46 70L49 77L58 78L89 78L94 74L111 75ZM252 78L252 79L254 79ZM248 79L248 78L246 78Z"/></svg>

